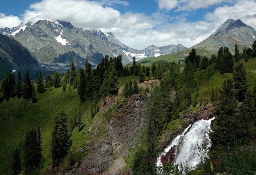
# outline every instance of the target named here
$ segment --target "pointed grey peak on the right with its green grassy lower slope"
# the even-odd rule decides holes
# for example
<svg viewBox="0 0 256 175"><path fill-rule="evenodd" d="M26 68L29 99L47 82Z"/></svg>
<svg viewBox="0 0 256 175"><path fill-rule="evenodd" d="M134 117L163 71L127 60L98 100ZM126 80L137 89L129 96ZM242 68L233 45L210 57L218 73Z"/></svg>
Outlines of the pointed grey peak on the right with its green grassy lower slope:
<svg viewBox="0 0 256 175"><path fill-rule="evenodd" d="M186 56L190 53L191 49L196 49L198 55L211 57L212 54L218 53L220 47L228 47L232 54L234 54L235 44L238 45L240 52L244 47L252 47L252 43L256 36L256 31L244 24L241 20L227 20L218 28L214 33L212 33L204 41L182 51L178 51L173 54L161 55L155 58L147 58L138 61L138 63L153 63L160 60L167 62L184 60ZM147 61L149 60L149 62Z"/></svg>

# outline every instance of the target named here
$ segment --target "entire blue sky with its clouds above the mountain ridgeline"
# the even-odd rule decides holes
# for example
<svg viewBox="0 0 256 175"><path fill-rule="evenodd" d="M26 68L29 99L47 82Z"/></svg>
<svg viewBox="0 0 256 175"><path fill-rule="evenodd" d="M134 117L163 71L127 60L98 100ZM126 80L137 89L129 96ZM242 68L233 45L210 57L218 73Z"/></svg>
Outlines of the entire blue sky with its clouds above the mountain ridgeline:
<svg viewBox="0 0 256 175"><path fill-rule="evenodd" d="M256 28L255 0L10 0L0 6L0 28L56 19L111 31L136 49L199 43L227 19Z"/></svg>

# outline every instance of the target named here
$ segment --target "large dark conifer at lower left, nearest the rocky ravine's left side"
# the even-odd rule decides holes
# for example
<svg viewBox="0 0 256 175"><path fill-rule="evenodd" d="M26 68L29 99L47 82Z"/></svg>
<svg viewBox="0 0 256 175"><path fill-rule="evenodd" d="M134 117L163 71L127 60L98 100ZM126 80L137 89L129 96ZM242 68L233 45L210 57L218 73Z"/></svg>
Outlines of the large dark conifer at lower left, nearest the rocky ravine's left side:
<svg viewBox="0 0 256 175"><path fill-rule="evenodd" d="M54 166L60 163L71 146L67 122L67 114L64 111L60 112L60 114L54 118L52 132L52 163Z"/></svg>

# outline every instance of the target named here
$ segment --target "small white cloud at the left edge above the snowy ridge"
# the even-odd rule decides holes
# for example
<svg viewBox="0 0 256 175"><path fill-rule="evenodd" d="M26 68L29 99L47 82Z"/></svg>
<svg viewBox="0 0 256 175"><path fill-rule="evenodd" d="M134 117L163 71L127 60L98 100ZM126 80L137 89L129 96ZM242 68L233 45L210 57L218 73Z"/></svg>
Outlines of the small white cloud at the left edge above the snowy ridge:
<svg viewBox="0 0 256 175"><path fill-rule="evenodd" d="M22 20L18 16L6 16L4 13L0 13L0 28L11 28L20 25Z"/></svg>

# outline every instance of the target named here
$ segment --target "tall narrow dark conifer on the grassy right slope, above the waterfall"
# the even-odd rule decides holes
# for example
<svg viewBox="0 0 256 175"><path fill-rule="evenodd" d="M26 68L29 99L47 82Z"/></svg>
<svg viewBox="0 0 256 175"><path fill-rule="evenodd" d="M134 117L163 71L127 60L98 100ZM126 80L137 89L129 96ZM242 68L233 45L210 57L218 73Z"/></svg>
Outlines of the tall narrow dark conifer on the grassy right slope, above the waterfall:
<svg viewBox="0 0 256 175"><path fill-rule="evenodd" d="M247 82L246 82L246 70L244 68L243 63L237 63L234 74L233 74L233 79L234 79L234 89L236 92L236 98L238 101L242 101L245 99L245 95L247 92Z"/></svg>

